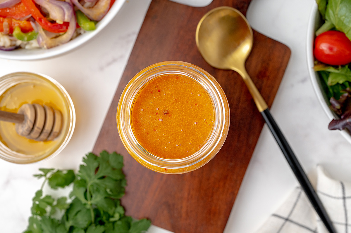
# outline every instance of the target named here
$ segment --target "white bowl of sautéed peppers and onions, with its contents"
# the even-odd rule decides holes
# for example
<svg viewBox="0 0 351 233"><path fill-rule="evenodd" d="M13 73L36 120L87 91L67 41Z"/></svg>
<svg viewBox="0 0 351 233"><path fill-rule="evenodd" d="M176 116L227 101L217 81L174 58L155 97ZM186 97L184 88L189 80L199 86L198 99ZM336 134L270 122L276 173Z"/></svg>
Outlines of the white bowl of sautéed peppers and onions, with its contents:
<svg viewBox="0 0 351 233"><path fill-rule="evenodd" d="M0 0L0 58L34 60L65 53L96 35L124 2Z"/></svg>

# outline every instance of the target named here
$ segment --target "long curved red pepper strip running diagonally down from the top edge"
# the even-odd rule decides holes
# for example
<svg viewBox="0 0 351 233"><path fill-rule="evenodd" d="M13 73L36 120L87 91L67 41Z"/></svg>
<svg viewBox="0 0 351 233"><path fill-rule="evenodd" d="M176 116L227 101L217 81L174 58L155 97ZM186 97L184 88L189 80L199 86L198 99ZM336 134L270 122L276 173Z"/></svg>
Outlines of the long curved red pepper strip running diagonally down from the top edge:
<svg viewBox="0 0 351 233"><path fill-rule="evenodd" d="M33 18L39 23L39 25L49 32L61 33L66 32L69 26L69 22L62 24L52 23L48 21L35 6L32 0L22 0L23 4L27 7L28 11L32 14Z"/></svg>

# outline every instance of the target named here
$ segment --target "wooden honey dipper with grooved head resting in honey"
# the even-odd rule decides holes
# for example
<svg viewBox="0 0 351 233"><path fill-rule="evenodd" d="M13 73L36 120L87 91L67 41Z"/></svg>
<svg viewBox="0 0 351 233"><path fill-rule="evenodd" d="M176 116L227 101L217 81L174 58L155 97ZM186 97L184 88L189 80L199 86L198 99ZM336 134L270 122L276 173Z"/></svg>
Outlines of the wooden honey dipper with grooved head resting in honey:
<svg viewBox="0 0 351 233"><path fill-rule="evenodd" d="M62 114L47 105L24 104L18 113L0 111L0 121L13 122L16 132L35 141L51 141L59 136Z"/></svg>

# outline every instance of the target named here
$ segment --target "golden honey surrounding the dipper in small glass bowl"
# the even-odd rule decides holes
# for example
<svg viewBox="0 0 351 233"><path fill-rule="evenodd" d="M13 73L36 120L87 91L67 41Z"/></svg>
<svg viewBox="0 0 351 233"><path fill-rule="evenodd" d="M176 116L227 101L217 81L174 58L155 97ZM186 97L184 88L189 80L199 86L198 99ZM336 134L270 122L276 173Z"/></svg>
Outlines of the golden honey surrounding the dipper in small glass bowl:
<svg viewBox="0 0 351 233"><path fill-rule="evenodd" d="M15 124L0 122L0 141L9 149L24 155L42 155L57 148L67 133L68 107L64 96L52 85L43 82L21 82L7 89L0 96L0 110L18 112L23 104L37 103L60 110L63 116L61 134L53 141L38 142L19 136Z"/></svg>

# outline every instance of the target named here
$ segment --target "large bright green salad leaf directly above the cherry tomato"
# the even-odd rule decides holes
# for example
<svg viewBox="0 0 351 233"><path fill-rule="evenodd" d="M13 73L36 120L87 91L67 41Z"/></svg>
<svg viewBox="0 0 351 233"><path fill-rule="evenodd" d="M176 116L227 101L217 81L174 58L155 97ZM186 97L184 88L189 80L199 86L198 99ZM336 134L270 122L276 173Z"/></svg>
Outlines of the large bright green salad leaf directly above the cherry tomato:
<svg viewBox="0 0 351 233"><path fill-rule="evenodd" d="M325 19L351 40L351 0L329 0Z"/></svg>

